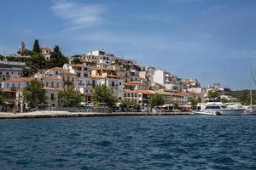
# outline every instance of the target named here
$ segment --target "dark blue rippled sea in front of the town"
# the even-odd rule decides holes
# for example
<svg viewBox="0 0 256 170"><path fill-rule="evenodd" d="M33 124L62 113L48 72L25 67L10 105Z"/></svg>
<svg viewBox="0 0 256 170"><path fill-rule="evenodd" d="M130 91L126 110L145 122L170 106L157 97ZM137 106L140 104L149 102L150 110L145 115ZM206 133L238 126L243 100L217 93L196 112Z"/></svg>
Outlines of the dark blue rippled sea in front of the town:
<svg viewBox="0 0 256 170"><path fill-rule="evenodd" d="M256 169L256 116L0 120L0 169Z"/></svg>

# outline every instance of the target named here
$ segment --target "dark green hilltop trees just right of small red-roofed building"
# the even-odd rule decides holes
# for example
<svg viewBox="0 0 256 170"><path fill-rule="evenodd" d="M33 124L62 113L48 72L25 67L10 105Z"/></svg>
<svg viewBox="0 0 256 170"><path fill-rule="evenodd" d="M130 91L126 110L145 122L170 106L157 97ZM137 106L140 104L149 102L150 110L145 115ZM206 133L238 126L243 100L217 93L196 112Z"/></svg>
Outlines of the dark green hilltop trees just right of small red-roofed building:
<svg viewBox="0 0 256 170"><path fill-rule="evenodd" d="M55 45L54 51L50 54L49 61L51 67L62 67L62 65L68 63L68 58L61 54L59 46Z"/></svg>

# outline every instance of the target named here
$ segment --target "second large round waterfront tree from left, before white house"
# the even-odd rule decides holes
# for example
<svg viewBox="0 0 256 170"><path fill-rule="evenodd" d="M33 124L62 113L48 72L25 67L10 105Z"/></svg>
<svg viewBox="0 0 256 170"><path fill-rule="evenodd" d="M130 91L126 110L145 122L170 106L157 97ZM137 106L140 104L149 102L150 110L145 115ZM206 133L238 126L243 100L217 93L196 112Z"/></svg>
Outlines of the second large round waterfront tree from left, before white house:
<svg viewBox="0 0 256 170"><path fill-rule="evenodd" d="M62 90L59 94L59 103L65 107L79 105L82 101L82 96L72 86Z"/></svg>

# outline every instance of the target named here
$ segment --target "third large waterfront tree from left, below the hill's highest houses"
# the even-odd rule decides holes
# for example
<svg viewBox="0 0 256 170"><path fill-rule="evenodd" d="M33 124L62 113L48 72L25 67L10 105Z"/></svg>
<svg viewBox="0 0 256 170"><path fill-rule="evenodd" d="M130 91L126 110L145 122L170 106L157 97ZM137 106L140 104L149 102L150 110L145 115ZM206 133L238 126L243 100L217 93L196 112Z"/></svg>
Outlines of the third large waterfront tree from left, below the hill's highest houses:
<svg viewBox="0 0 256 170"><path fill-rule="evenodd" d="M97 85L92 93L92 100L96 105L109 105L113 106L118 101L117 97L113 94L111 88L106 84Z"/></svg>

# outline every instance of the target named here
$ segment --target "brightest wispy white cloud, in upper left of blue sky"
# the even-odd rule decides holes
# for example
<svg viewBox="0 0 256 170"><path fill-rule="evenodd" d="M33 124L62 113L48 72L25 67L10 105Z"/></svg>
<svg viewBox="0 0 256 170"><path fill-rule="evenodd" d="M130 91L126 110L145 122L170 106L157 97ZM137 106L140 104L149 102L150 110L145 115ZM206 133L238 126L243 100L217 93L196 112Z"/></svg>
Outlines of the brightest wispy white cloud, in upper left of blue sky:
<svg viewBox="0 0 256 170"><path fill-rule="evenodd" d="M105 8L99 4L56 1L50 9L65 21L66 30L97 26L102 23Z"/></svg>

